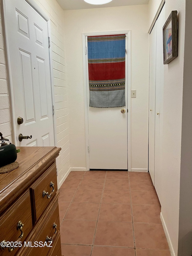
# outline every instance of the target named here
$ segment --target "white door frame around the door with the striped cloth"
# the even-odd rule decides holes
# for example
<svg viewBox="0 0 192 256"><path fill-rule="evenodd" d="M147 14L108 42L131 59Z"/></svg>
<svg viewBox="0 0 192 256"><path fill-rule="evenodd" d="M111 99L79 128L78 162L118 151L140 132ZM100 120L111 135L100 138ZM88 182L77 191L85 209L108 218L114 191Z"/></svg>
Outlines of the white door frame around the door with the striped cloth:
<svg viewBox="0 0 192 256"><path fill-rule="evenodd" d="M127 76L127 135L128 135L128 171L131 171L131 30L107 31L107 32L87 32L82 33L82 53L83 53L83 84L84 84L84 109L85 109L85 152L86 152L86 170L89 170L89 132L88 132L88 101L87 101L87 86L88 86L88 62L86 60L85 47L87 47L88 36L94 35L115 35L126 34L126 49L127 49L127 62L125 62L125 76ZM88 47L86 48L88 49Z"/></svg>

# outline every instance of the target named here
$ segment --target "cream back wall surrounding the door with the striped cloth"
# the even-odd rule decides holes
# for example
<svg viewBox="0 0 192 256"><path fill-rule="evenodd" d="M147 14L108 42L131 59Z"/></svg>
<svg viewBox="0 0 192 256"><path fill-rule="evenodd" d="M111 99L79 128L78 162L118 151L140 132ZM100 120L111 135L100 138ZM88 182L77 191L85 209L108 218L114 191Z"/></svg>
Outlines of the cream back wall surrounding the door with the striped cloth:
<svg viewBox="0 0 192 256"><path fill-rule="evenodd" d="M131 30L132 168L148 168L148 5L64 11L71 167L86 167L82 33Z"/></svg>

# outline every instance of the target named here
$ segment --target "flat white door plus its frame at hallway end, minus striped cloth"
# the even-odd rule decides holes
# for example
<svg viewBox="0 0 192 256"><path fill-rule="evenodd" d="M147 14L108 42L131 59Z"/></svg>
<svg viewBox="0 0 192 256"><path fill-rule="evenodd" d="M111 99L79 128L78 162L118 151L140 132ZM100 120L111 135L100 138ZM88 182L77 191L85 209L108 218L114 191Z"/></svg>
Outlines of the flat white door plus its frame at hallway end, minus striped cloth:
<svg viewBox="0 0 192 256"><path fill-rule="evenodd" d="M89 107L88 36L125 33L125 106ZM84 33L84 99L87 170L131 170L131 38L130 31ZM121 110L123 110L121 112ZM130 110L130 112L128 112Z"/></svg>

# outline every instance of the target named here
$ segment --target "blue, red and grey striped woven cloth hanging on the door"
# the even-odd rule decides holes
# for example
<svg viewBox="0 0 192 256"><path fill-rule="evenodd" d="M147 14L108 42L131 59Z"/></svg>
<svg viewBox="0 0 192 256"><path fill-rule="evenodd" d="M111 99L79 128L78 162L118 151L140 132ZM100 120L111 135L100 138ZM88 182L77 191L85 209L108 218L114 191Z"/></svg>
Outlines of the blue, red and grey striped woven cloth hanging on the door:
<svg viewBox="0 0 192 256"><path fill-rule="evenodd" d="M125 106L125 34L88 36L90 107Z"/></svg>

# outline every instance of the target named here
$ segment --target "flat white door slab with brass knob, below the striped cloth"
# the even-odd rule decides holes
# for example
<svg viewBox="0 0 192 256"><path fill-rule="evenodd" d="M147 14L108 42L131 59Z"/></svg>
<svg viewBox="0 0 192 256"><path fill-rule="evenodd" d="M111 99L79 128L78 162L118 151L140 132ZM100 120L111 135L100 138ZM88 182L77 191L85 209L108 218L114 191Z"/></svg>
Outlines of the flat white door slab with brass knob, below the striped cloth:
<svg viewBox="0 0 192 256"><path fill-rule="evenodd" d="M128 170L127 54L125 55L125 63L126 106L114 108L88 107L90 169ZM87 86L87 95L89 106L89 86ZM121 113L122 109L126 110L125 113Z"/></svg>

